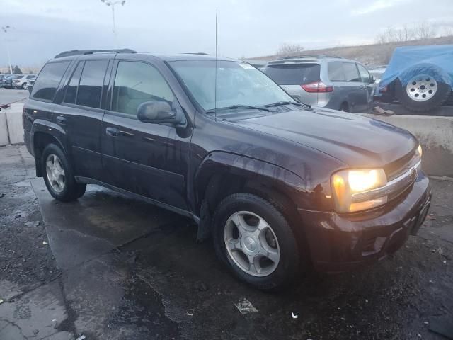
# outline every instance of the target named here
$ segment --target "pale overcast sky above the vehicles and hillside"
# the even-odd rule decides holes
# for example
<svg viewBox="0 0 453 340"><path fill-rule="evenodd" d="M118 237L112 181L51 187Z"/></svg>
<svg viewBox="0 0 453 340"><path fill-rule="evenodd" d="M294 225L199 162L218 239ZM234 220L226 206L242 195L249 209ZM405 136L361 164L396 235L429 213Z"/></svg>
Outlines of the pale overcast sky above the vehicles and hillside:
<svg viewBox="0 0 453 340"><path fill-rule="evenodd" d="M282 43L306 49L372 43L386 26L430 22L453 28L453 0L127 0L115 6L118 45L139 52L272 55ZM0 66L39 67L58 52L113 48L112 15L101 0L1 0Z"/></svg>

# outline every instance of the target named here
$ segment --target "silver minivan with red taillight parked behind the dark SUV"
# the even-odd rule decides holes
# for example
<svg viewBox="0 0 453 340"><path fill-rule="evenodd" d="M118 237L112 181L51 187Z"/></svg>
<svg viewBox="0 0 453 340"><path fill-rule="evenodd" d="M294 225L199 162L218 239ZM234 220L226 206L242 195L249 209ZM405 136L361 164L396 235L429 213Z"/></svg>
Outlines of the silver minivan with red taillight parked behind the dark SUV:
<svg viewBox="0 0 453 340"><path fill-rule="evenodd" d="M371 110L374 79L354 60L289 57L269 62L264 73L302 103L355 113Z"/></svg>

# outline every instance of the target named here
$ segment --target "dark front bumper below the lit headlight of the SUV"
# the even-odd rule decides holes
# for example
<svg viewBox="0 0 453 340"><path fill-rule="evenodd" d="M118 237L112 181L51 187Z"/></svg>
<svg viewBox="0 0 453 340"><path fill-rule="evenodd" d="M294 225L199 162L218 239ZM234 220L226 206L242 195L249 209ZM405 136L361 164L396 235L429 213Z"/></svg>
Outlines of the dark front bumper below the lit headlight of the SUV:
<svg viewBox="0 0 453 340"><path fill-rule="evenodd" d="M354 215L299 209L317 271L339 273L384 259L423 224L431 202L428 177L384 208Z"/></svg>

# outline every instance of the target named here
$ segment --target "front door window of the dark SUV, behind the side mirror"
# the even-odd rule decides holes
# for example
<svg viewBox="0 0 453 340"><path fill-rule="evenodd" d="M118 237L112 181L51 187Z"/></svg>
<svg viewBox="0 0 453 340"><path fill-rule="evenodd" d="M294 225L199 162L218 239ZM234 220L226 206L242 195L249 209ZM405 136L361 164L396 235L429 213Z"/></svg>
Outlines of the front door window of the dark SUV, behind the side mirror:
<svg viewBox="0 0 453 340"><path fill-rule="evenodd" d="M137 115L145 101L173 103L174 96L159 71L143 62L120 62L113 87L112 111Z"/></svg>

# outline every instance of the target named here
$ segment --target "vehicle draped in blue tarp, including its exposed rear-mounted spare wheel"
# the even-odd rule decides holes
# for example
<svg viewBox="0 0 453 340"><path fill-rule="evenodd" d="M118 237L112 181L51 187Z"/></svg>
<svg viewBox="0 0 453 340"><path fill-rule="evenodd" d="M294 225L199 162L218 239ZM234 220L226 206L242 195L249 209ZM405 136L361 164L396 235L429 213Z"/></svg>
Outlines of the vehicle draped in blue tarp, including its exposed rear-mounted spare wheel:
<svg viewBox="0 0 453 340"><path fill-rule="evenodd" d="M453 45L395 49L379 84L384 102L399 101L415 112L446 103L453 89Z"/></svg>

